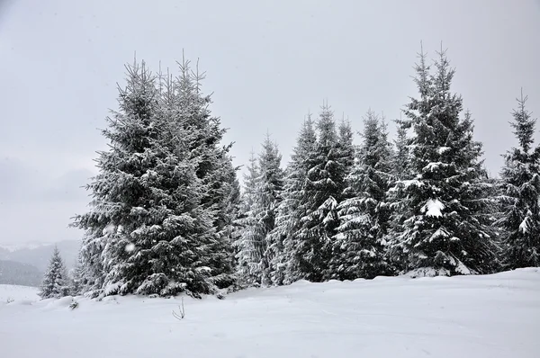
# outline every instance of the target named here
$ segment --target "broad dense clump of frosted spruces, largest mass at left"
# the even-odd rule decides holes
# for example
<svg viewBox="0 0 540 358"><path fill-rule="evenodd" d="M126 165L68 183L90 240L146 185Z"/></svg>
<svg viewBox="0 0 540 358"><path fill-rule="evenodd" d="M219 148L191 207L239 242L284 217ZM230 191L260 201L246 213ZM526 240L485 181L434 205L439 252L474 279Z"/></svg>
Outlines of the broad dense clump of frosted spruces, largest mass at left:
<svg viewBox="0 0 540 358"><path fill-rule="evenodd" d="M201 77L154 76L128 66L119 111L103 130L109 150L87 188L81 261L92 295L210 293L233 282L226 201L234 183L223 130Z"/></svg>

